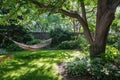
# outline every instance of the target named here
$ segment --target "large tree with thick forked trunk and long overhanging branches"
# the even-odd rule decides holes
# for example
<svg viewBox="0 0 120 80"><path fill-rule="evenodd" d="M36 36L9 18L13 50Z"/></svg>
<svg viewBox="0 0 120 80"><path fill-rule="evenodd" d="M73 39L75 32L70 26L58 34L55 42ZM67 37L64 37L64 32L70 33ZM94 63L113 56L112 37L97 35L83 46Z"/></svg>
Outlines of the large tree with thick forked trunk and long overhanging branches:
<svg viewBox="0 0 120 80"><path fill-rule="evenodd" d="M64 16L75 18L79 21L84 29L84 35L90 44L91 55L99 55L105 52L107 36L109 33L110 25L112 24L117 7L120 0L5 0L8 2L15 2L21 5L31 4L37 12L51 12L60 13ZM3 1L4 2L4 1ZM6 3L8 3L6 2ZM12 4L15 4L13 3ZM4 2L5 3L5 2ZM21 6L20 5L20 6ZM36 7L35 7L36 6ZM93 7L88 11L89 7ZM31 7L30 7L31 8ZM96 9L95 9L96 8ZM89 20L87 17L88 12L96 10L96 25L94 26L94 36L91 35ZM87 11L88 12L87 12Z"/></svg>

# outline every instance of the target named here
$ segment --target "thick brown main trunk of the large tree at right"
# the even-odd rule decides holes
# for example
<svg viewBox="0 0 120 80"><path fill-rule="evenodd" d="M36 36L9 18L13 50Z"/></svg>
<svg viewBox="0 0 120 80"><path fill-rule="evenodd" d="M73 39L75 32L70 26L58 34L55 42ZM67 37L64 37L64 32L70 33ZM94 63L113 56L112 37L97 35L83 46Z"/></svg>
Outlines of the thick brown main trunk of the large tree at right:
<svg viewBox="0 0 120 80"><path fill-rule="evenodd" d="M118 1L120 3L120 1ZM118 4L116 2L116 5ZM91 56L98 56L105 53L106 41L110 29L115 18L116 7L114 1L99 0L97 7L97 18L96 18L96 32L94 41L90 44Z"/></svg>

